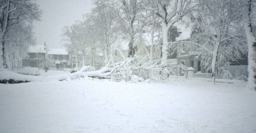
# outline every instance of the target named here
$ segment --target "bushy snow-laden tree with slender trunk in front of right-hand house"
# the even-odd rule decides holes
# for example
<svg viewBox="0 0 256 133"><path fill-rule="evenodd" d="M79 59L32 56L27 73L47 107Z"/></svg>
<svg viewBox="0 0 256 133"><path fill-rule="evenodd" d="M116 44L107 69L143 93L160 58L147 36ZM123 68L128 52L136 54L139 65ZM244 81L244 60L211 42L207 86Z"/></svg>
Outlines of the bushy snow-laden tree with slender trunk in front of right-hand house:
<svg viewBox="0 0 256 133"><path fill-rule="evenodd" d="M247 47L239 22L239 0L200 0L191 44L185 48L200 51L204 64L211 65L212 83L215 83L216 68L226 61L241 58Z"/></svg>

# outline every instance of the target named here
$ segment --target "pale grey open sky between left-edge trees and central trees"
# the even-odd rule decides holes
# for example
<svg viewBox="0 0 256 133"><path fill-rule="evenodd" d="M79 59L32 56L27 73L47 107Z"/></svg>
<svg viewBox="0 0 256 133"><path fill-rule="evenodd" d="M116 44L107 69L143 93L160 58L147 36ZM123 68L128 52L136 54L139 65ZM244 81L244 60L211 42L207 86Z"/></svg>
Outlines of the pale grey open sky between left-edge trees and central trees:
<svg viewBox="0 0 256 133"><path fill-rule="evenodd" d="M64 26L82 20L82 15L89 13L92 0L36 0L43 10L41 21L33 22L36 44L52 48L61 48L61 33Z"/></svg>

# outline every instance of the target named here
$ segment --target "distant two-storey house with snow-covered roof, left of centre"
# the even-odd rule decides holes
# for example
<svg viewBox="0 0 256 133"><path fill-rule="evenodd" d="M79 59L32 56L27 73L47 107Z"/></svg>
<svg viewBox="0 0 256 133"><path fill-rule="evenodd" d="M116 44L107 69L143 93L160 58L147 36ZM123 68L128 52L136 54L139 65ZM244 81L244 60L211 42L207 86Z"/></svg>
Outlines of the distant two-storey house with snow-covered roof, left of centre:
<svg viewBox="0 0 256 133"><path fill-rule="evenodd" d="M67 68L69 55L66 49L47 48L47 45L30 45L26 58L22 59L23 67Z"/></svg>

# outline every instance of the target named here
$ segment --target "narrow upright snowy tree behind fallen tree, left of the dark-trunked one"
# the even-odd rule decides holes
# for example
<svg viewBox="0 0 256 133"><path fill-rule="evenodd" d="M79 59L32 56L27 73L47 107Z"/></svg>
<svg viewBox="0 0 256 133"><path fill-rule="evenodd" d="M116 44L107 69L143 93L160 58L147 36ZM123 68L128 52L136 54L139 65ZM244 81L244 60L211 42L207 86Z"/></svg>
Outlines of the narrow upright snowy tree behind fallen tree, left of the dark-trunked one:
<svg viewBox="0 0 256 133"><path fill-rule="evenodd" d="M116 23L116 7L112 1L94 0L95 7L92 9L92 14L87 16L87 19L93 21L95 25L96 38L102 45L103 62L105 65L106 59L110 54L111 45L117 38L117 23Z"/></svg>

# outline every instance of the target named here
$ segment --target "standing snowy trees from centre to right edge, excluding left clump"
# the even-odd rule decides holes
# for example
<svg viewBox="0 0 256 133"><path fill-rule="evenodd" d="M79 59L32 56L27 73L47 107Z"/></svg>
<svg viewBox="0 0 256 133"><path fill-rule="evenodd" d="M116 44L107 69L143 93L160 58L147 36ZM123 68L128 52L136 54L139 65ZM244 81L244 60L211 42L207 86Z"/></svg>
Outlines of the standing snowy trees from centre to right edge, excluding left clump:
<svg viewBox="0 0 256 133"><path fill-rule="evenodd" d="M67 48L75 55L79 51L82 57L97 50L102 53L102 66L109 62L111 51L119 47L116 43L119 39L127 41L125 56L136 55L134 42L145 30L150 33L148 44L152 46L148 60L154 64L153 45L160 42L160 66L165 72L170 49L199 51L198 58L212 71L213 83L219 66L243 55L252 56L247 45L253 38L250 36L248 41L247 34L253 33L251 29L255 25L251 21L255 19L252 0L93 0L93 5L91 13L84 15L84 21L65 27L63 35L68 39ZM170 29L179 22L192 25L191 37L170 42ZM255 52L254 46L251 49ZM255 66L249 63L249 69L254 69L250 72L254 77L249 77L253 77L254 82Z"/></svg>

